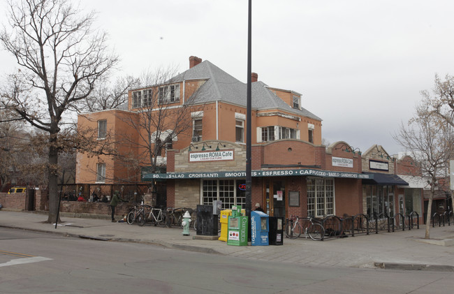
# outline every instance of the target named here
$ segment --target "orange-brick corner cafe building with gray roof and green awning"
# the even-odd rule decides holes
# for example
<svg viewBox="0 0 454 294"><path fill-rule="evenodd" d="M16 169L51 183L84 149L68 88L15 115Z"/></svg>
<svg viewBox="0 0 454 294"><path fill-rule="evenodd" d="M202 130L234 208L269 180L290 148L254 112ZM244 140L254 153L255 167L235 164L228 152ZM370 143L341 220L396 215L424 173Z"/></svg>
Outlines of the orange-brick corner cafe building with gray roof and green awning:
<svg viewBox="0 0 454 294"><path fill-rule="evenodd" d="M301 94L270 87L256 73L251 78L253 207L260 203L268 214L284 217L396 212L396 191L408 183L395 175L395 161L381 147L362 156L346 142L321 145L321 119L302 108ZM142 130L131 128L124 118L139 120L143 106L156 97L158 107L186 105L190 127L177 135L171 127L158 130L166 148L156 172L131 170L113 156L78 154L77 182L155 181L165 186L161 203L168 207L195 208L213 200L221 200L223 208L244 205L246 89L247 84L210 61L190 57L184 73L131 90L127 109L80 115L80 128L97 128L99 142L106 133L113 138L128 133L131 140L140 140ZM112 144L125 154L140 154L140 148L124 141Z"/></svg>

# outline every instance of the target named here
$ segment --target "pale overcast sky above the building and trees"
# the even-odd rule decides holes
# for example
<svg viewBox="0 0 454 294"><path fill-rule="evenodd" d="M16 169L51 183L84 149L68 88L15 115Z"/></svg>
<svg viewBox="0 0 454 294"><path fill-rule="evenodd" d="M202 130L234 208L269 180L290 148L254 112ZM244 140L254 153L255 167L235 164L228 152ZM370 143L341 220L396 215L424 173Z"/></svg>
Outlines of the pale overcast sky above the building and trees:
<svg viewBox="0 0 454 294"><path fill-rule="evenodd" d="M3 6L4 8L4 0ZM247 0L82 0L122 58L123 75L209 60L247 82ZM452 0L253 0L252 71L302 94L322 137L402 151L392 135L434 75L454 74ZM1 17L5 15L4 11ZM14 60L0 52L0 72Z"/></svg>

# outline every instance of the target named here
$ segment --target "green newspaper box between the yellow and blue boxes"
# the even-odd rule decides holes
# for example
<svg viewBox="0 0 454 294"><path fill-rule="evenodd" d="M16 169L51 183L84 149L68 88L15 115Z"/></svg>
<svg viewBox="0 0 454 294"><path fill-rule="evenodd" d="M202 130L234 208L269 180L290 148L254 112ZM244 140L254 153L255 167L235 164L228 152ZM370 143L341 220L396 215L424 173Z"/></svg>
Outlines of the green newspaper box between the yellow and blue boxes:
<svg viewBox="0 0 454 294"><path fill-rule="evenodd" d="M241 206L234 207L232 207L232 216L228 216L227 245L247 246L248 217L241 216Z"/></svg>

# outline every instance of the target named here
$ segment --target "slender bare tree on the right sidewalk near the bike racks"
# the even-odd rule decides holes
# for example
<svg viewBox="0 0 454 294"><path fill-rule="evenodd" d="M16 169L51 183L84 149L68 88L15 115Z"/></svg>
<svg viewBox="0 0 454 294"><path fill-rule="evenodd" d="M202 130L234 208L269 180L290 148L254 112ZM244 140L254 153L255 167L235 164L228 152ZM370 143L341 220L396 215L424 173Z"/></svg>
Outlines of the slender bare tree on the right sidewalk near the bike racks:
<svg viewBox="0 0 454 294"><path fill-rule="evenodd" d="M430 185L429 203L427 206L425 238L430 238L430 217L435 189L442 187L449 175L449 160L453 154L453 132L451 125L441 121L430 112L430 105L421 103L417 115L402 124L394 138L404 147L407 154L418 161L421 175L427 177ZM420 175L417 175L420 176Z"/></svg>

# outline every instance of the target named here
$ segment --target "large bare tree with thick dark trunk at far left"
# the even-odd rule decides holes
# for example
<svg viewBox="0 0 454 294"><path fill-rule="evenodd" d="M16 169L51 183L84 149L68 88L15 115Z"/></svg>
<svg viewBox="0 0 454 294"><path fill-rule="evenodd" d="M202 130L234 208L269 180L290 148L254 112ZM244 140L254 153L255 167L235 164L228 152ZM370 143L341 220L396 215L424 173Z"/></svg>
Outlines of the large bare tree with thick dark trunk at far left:
<svg viewBox="0 0 454 294"><path fill-rule="evenodd" d="M48 222L58 211L58 155L63 115L76 110L96 82L117 64L107 36L92 31L93 12L82 15L68 0L10 0L8 22L0 40L20 69L1 89L3 107L47 133Z"/></svg>

